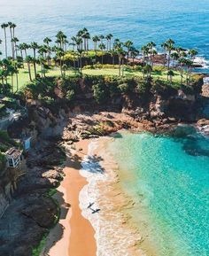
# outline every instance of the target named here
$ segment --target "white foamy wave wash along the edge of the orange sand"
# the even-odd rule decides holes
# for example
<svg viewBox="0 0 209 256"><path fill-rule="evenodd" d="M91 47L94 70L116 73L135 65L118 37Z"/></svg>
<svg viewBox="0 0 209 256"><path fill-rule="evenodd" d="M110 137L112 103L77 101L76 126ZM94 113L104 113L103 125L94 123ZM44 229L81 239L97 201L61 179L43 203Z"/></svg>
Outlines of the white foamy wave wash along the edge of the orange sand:
<svg viewBox="0 0 209 256"><path fill-rule="evenodd" d="M110 155L105 152L105 161L97 159L94 151L98 142L89 144L89 153L81 163L81 175L89 182L80 192L80 207L82 215L90 221L96 231L97 256L134 256L145 255L138 248L132 248L141 240L134 229L126 228L124 213L115 210L111 197L107 194L114 193L111 183L117 181L114 169L117 164ZM102 157L104 152L99 151ZM101 165L102 162L102 165ZM103 169L105 167L105 171ZM89 203L94 203L92 209L99 209L99 213L92 213L88 208Z"/></svg>

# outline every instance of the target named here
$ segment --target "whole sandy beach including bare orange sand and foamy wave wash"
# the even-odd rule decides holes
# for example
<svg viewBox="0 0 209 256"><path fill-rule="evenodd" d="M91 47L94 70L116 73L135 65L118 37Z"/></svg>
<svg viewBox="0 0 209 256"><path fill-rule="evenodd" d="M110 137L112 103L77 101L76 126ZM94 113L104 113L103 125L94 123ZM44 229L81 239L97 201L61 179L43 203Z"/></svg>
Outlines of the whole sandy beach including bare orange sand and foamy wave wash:
<svg viewBox="0 0 209 256"><path fill-rule="evenodd" d="M143 237L123 210L134 202L120 190L118 165L106 150L111 137L66 146L65 178L55 198L60 220L42 256L145 256ZM99 209L92 213L88 208Z"/></svg>

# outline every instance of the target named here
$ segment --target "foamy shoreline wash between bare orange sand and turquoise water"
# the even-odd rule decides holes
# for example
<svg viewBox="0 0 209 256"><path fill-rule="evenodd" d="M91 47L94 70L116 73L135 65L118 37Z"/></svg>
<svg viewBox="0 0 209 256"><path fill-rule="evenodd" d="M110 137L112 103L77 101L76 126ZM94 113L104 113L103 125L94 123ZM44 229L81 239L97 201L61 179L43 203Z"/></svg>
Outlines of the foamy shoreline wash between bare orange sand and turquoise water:
<svg viewBox="0 0 209 256"><path fill-rule="evenodd" d="M130 215L123 211L134 202L120 190L118 164L106 151L110 140L112 137L103 137L89 144L89 155L81 169L81 175L89 182L80 193L82 214L96 230L97 255L146 256L141 248L143 237L130 221ZM97 171L89 174L95 168ZM97 215L88 211L86 198L91 199L94 208L100 209Z"/></svg>

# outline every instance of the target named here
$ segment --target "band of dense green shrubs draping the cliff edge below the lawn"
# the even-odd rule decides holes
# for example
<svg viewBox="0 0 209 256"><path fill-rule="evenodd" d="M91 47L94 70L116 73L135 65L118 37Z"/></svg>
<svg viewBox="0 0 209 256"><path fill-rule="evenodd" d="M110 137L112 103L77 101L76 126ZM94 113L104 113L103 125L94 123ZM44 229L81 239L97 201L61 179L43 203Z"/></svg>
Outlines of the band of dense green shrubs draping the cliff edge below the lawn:
<svg viewBox="0 0 209 256"><path fill-rule="evenodd" d="M91 93L97 104L104 104L124 95L134 95L143 100L154 94L171 97L177 95L180 88L185 93L196 94L201 91L201 86L200 75L191 76L188 85L170 83L158 77L144 80L139 76L82 75L36 79L27 84L25 94L27 98L39 99L43 105L58 109L56 106L60 98L64 103L74 102L78 97L85 98L86 93Z"/></svg>

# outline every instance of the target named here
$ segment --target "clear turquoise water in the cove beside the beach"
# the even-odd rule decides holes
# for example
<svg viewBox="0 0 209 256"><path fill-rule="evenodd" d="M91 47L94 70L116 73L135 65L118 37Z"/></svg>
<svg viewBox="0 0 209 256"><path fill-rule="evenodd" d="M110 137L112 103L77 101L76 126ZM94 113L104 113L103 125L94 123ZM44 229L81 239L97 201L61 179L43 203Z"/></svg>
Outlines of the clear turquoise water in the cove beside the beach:
<svg viewBox="0 0 209 256"><path fill-rule="evenodd" d="M180 130L181 129L181 130ZM122 133L110 144L128 210L159 256L209 255L209 138Z"/></svg>

